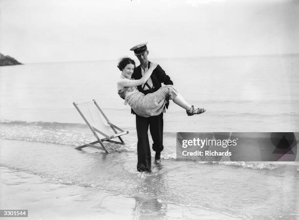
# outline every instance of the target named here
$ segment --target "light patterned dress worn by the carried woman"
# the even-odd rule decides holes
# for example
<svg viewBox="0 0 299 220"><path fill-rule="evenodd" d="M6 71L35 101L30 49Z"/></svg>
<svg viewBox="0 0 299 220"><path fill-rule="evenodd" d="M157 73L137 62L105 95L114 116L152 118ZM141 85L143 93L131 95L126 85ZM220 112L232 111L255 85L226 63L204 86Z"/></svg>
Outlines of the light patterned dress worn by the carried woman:
<svg viewBox="0 0 299 220"><path fill-rule="evenodd" d="M164 85L153 93L144 95L137 87L124 87L118 91L119 96L126 100L134 112L142 117L160 115L166 104L166 98L174 99L178 92L172 85Z"/></svg>

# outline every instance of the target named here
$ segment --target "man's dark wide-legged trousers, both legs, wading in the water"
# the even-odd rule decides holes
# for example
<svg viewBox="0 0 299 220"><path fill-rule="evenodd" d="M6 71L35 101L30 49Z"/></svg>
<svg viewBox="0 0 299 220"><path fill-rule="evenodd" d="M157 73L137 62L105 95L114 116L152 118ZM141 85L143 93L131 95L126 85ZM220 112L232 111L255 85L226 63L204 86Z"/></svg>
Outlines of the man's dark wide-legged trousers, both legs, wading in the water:
<svg viewBox="0 0 299 220"><path fill-rule="evenodd" d="M137 170L151 171L151 155L148 130L153 140L152 149L156 152L163 150L163 113L158 116L144 118L136 115L137 129Z"/></svg>

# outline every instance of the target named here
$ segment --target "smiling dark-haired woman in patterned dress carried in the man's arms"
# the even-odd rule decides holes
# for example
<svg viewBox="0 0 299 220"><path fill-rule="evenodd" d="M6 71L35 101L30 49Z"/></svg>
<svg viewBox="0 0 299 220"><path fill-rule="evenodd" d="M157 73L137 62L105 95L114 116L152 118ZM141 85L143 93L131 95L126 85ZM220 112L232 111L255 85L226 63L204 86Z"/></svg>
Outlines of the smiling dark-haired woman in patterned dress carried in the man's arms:
<svg viewBox="0 0 299 220"><path fill-rule="evenodd" d="M120 79L117 81L118 94L122 99L126 100L128 105L139 116L147 118L161 114L167 97L186 109L188 116L201 114L206 111L203 108L194 109L194 106L190 105L172 85L162 86L156 92L147 95L139 92L136 86L144 84L149 79L152 71L157 67L156 63L150 63L149 70L140 80L131 80L131 75L135 68L134 60L122 58L117 67L122 71Z"/></svg>

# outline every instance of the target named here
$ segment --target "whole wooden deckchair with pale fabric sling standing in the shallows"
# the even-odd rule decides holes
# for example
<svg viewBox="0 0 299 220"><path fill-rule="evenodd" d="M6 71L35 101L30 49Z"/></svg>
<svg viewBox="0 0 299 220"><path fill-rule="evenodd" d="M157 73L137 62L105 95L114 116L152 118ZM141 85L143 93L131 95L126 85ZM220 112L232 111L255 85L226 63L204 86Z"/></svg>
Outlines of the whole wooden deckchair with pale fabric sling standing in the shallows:
<svg viewBox="0 0 299 220"><path fill-rule="evenodd" d="M92 102L85 102L85 103L76 103L73 102L73 105L75 106L75 108L77 109L77 111L79 112L79 114L81 115L81 117L83 118L83 120L85 121L85 123L87 124L87 126L89 127L89 129L91 130L92 134L96 137L96 141L93 141L91 143L86 143L82 146L76 147L75 149L77 150L81 150L84 147L94 147L97 149L103 149L106 151L106 153L109 153L107 147L105 146L104 142L112 142L112 143L117 143L117 144L125 144L124 140L122 140L122 138L120 136L122 135L126 135L128 134L128 131L124 131L121 128L117 127L116 125L114 125L113 123L111 123L107 116L104 114L104 112L102 111L102 109L100 108L100 106L98 105L98 103L95 100L92 100ZM79 109L79 106L81 107L81 109L85 106L86 109L86 105L89 105L89 107L87 107L87 111L85 111L85 115L83 115L83 111L81 111ZM93 112L90 112L90 109L93 109ZM89 119L87 120L88 117L85 117L89 115ZM104 118L104 120L103 120ZM105 125L104 121L106 120L107 125ZM98 121L98 123L96 123ZM99 122L100 121L100 122ZM109 129L107 129L109 128ZM119 132L118 132L118 131ZM100 137L103 138L100 138ZM115 141L115 140L111 140L114 138L118 138L120 141ZM100 144L100 146L98 146Z"/></svg>

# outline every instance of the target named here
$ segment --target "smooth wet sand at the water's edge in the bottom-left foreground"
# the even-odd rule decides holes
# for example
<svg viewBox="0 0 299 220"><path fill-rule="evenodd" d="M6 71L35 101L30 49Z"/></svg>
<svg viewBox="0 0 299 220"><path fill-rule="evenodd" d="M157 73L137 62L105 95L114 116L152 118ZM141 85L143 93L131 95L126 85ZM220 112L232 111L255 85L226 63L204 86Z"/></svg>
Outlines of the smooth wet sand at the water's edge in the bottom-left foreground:
<svg viewBox="0 0 299 220"><path fill-rule="evenodd" d="M2 166L0 194L0 209L28 209L30 220L236 219L154 198L128 198L98 188L67 185Z"/></svg>

